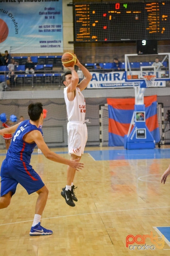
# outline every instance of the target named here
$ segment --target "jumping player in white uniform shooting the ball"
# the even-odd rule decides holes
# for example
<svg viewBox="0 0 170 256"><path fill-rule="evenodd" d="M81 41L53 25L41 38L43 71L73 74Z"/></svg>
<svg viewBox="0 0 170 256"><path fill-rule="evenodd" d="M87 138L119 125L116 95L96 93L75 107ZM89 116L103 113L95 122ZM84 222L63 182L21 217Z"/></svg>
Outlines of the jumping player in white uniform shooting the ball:
<svg viewBox="0 0 170 256"><path fill-rule="evenodd" d="M66 86L64 88L64 99L69 121L67 123L69 155L71 155L70 159L79 159L80 161L87 142L87 126L85 123L86 102L81 91L87 87L92 79L92 75L78 59L76 65L83 72L83 80L79 83L78 74L73 66L66 67L69 70L62 75L61 82ZM65 198L66 203L70 206L75 206L73 200L78 201L74 194L75 187L73 185L75 173L75 169L67 168L67 183L61 192L62 197Z"/></svg>

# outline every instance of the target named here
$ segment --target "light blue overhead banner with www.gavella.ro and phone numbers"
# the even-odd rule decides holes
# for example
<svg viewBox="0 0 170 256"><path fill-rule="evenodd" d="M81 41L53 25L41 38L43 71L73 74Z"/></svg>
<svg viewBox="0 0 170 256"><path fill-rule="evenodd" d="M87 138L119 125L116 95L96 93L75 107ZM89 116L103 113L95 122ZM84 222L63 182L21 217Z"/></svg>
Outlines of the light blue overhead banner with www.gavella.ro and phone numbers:
<svg viewBox="0 0 170 256"><path fill-rule="evenodd" d="M21 53L22 47L24 53L30 47L63 52L62 0L0 0L1 54L11 48Z"/></svg>

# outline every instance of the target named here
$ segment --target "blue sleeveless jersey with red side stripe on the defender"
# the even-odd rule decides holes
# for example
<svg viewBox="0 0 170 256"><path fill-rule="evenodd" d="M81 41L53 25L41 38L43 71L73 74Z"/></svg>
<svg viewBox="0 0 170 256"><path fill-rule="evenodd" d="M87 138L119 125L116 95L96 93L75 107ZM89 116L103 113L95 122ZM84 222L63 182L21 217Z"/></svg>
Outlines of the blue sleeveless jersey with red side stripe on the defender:
<svg viewBox="0 0 170 256"><path fill-rule="evenodd" d="M7 151L6 158L14 158L15 161L19 160L25 163L30 163L31 154L36 146L36 143L27 143L23 141L25 134L33 130L39 130L35 125L32 125L29 120L20 123L13 135L11 145Z"/></svg>

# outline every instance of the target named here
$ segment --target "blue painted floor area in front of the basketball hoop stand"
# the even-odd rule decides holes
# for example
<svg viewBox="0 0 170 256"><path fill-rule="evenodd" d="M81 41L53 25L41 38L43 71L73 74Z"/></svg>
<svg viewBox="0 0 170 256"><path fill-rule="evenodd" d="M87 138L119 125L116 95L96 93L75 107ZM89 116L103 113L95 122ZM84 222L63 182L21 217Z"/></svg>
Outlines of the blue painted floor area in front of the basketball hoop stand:
<svg viewBox="0 0 170 256"><path fill-rule="evenodd" d="M94 150L84 153L89 153L96 161L170 158L170 149Z"/></svg>

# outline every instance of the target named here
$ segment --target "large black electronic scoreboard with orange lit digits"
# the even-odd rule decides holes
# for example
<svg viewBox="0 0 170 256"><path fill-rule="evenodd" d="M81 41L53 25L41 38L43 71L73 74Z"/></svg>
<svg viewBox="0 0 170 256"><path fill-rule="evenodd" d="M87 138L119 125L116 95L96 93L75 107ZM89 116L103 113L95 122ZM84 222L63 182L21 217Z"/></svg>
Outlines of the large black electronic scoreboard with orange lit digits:
<svg viewBox="0 0 170 256"><path fill-rule="evenodd" d="M74 42L170 38L170 1L75 3Z"/></svg>

